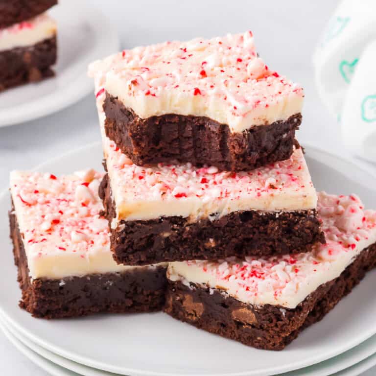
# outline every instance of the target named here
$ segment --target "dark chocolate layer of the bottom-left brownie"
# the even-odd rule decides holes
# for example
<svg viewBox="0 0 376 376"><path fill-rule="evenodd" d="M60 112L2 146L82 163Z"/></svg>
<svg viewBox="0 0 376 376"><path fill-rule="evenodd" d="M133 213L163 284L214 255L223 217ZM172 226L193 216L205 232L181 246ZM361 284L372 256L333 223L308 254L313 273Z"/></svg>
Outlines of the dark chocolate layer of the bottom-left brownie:
<svg viewBox="0 0 376 376"><path fill-rule="evenodd" d="M124 273L90 274L59 280L31 281L24 245L15 214L9 213L18 281L20 307L34 317L78 317L97 312L150 312L162 309L167 285L166 268Z"/></svg>

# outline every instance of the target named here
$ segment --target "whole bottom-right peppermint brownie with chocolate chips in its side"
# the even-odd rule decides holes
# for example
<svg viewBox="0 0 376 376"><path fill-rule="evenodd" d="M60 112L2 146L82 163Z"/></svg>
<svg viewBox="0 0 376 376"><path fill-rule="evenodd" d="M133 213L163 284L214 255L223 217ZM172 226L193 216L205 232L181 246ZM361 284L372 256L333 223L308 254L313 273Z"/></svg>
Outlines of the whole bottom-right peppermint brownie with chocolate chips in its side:
<svg viewBox="0 0 376 376"><path fill-rule="evenodd" d="M165 312L259 349L282 350L376 265L376 212L319 194L326 244L258 259L172 262Z"/></svg>

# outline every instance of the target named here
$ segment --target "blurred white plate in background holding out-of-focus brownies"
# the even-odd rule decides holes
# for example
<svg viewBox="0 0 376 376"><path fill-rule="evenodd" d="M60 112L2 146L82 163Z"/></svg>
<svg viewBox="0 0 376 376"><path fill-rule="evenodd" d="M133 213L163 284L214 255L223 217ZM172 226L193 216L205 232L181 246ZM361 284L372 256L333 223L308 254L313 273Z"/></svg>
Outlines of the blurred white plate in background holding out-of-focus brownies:
<svg viewBox="0 0 376 376"><path fill-rule="evenodd" d="M56 76L0 93L0 127L63 109L94 90L88 64L119 49L115 28L89 1L62 0L50 11L58 24Z"/></svg>

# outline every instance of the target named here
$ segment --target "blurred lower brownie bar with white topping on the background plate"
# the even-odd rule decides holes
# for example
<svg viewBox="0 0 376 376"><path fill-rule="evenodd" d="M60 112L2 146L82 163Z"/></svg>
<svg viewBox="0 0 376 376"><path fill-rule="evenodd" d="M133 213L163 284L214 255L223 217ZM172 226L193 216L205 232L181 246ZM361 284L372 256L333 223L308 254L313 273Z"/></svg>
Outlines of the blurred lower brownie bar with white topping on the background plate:
<svg viewBox="0 0 376 376"><path fill-rule="evenodd" d="M0 29L0 91L53 76L56 23L46 13Z"/></svg>

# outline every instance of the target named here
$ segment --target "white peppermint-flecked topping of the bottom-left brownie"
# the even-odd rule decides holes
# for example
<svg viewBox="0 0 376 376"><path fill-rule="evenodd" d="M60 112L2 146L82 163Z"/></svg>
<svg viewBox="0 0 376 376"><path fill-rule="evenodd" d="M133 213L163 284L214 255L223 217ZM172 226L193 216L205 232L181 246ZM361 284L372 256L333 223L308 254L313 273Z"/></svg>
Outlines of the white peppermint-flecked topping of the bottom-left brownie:
<svg viewBox="0 0 376 376"><path fill-rule="evenodd" d="M103 209L97 194L100 178L94 170L62 177L11 172L10 191L32 279L155 266L114 261L108 221L98 215Z"/></svg>

